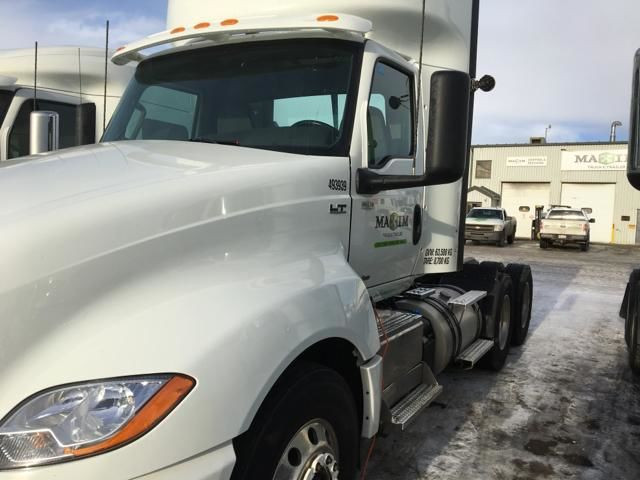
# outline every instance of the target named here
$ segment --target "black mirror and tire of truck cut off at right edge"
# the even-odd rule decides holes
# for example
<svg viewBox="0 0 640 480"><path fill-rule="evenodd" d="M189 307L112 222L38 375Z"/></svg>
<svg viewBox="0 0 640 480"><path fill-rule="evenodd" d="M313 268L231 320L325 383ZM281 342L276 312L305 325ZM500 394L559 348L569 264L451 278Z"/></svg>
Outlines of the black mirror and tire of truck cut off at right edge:
<svg viewBox="0 0 640 480"><path fill-rule="evenodd" d="M627 178L636 190L640 190L640 50L633 62ZM624 338L629 351L629 365L634 373L640 375L640 268L629 275L620 316L625 320Z"/></svg>

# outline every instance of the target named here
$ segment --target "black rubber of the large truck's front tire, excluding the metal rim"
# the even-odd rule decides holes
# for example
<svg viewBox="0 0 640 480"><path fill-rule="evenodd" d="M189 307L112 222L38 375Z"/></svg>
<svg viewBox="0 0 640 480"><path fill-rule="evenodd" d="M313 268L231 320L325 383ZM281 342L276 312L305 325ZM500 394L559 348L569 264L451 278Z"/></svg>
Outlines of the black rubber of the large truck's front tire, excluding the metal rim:
<svg viewBox="0 0 640 480"><path fill-rule="evenodd" d="M249 430L234 440L232 480L271 480L281 459L299 461L285 451L309 422L320 419L333 428L340 479L353 480L359 455L359 421L353 394L334 370L301 362L283 375L258 411ZM292 460L289 460L292 459ZM302 465L304 465L302 459ZM324 478L324 477L323 477Z"/></svg>

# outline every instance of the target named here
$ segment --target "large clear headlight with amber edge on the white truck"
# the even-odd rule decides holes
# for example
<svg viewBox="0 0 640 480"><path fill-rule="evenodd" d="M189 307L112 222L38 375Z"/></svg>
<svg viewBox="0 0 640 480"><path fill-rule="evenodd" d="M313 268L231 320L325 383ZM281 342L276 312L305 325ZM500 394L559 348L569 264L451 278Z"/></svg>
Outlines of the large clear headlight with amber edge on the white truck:
<svg viewBox="0 0 640 480"><path fill-rule="evenodd" d="M0 423L0 470L95 455L151 430L193 388L181 375L57 387L23 402Z"/></svg>

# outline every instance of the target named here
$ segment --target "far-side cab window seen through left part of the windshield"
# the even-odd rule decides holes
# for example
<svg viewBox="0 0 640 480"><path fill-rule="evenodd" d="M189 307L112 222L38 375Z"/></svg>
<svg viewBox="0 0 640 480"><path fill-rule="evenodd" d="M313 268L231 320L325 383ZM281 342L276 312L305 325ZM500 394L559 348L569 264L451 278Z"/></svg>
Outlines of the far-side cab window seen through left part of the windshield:
<svg viewBox="0 0 640 480"><path fill-rule="evenodd" d="M125 138L188 140L193 138L198 96L173 88L147 88L125 129Z"/></svg>

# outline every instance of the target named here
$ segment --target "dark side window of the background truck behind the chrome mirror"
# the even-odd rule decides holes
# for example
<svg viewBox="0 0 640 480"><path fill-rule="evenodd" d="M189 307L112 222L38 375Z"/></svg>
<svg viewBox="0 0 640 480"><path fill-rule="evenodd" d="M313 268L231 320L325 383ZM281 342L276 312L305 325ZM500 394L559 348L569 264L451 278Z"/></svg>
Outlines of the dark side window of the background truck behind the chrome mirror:
<svg viewBox="0 0 640 480"><path fill-rule="evenodd" d="M76 105L62 102L38 100L38 110L57 112L60 116L60 148L75 147L77 140ZM29 155L29 116L33 111L33 102L26 100L20 107L9 134L9 158Z"/></svg>

